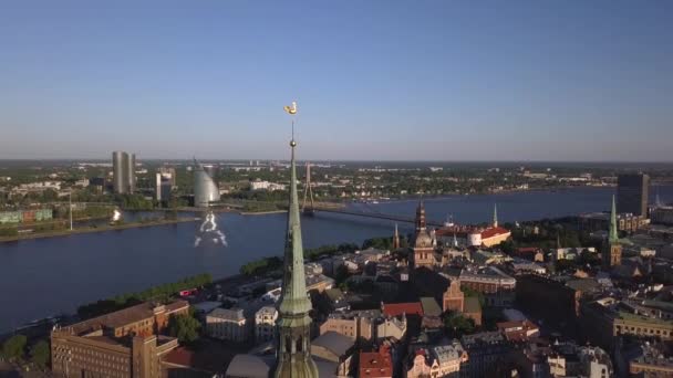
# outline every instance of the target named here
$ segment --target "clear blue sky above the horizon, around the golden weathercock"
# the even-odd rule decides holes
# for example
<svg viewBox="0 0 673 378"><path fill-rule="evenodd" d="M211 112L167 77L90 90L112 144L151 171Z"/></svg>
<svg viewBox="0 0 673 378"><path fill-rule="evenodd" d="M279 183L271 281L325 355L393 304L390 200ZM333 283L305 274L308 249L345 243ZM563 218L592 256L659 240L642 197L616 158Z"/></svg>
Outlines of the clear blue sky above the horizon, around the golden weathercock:
<svg viewBox="0 0 673 378"><path fill-rule="evenodd" d="M0 158L673 160L673 1L0 2Z"/></svg>

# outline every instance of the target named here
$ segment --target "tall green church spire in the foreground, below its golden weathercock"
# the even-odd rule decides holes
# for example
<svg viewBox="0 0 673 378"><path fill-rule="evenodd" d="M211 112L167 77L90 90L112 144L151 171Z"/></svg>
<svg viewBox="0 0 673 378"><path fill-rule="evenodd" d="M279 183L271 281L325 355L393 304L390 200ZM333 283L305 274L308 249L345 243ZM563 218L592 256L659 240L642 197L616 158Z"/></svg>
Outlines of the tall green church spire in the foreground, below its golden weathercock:
<svg viewBox="0 0 673 378"><path fill-rule="evenodd" d="M276 378L318 378L318 367L311 358L311 301L303 272L303 246L299 221L297 168L292 138L290 162L290 207L283 258L282 292L278 305L278 343Z"/></svg>

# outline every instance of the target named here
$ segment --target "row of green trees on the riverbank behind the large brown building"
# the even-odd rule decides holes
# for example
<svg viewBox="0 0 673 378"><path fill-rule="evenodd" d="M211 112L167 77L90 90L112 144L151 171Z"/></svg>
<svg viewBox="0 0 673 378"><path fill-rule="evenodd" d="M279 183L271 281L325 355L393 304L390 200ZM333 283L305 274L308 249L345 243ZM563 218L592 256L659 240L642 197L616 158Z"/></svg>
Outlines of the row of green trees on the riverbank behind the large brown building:
<svg viewBox="0 0 673 378"><path fill-rule="evenodd" d="M190 288L198 288L209 285L213 277L208 273L194 275L177 282L166 283L149 287L138 293L127 293L107 300L77 307L77 315L82 319L100 316L114 311L123 309L146 301L167 302L178 292Z"/></svg>

